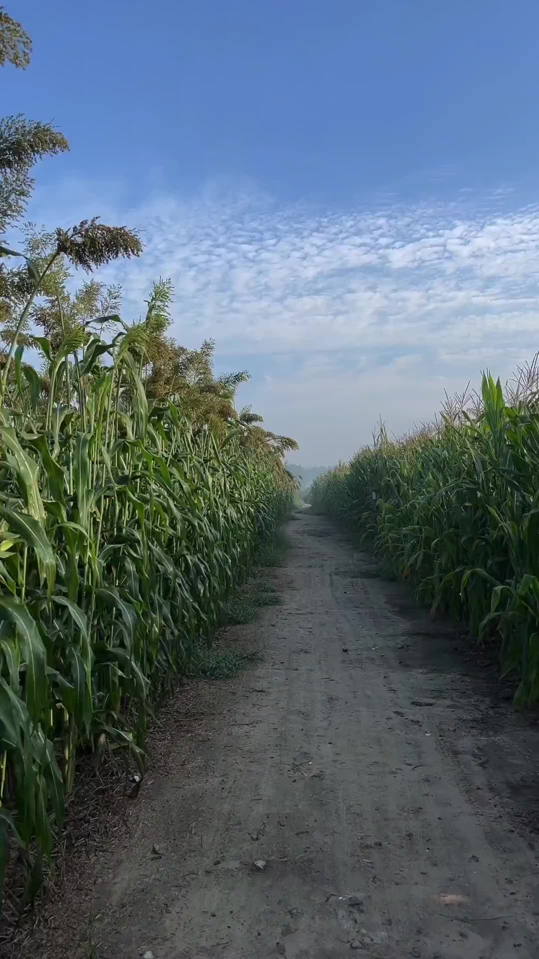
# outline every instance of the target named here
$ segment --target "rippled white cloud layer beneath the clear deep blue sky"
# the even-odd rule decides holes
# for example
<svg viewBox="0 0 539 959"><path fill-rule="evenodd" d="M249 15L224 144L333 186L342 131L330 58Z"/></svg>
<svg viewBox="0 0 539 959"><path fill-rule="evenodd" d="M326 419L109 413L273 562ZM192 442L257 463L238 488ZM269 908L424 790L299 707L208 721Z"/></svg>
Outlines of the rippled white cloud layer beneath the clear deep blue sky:
<svg viewBox="0 0 539 959"><path fill-rule="evenodd" d="M511 209L509 188L430 206L391 195L372 210L284 207L219 180L130 207L122 190L105 205L87 186L65 195L68 222L87 204L141 229L141 260L104 270L123 283L127 315L171 276L176 338L212 336L232 366L250 356L248 400L271 427L295 428L304 460L348 456L380 412L405 429L445 388L486 365L506 376L537 347L539 208ZM48 221L48 205L35 219Z"/></svg>

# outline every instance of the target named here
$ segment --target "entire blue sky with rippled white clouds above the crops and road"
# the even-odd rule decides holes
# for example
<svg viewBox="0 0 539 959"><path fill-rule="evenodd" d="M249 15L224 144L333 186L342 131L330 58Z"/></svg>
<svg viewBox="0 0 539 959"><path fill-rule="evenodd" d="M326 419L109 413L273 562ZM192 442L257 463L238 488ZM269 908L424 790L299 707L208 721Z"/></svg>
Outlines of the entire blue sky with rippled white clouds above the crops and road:
<svg viewBox="0 0 539 959"><path fill-rule="evenodd" d="M54 119L29 214L143 231L138 316L247 367L239 401L304 463L398 433L537 341L539 7L531 0L57 0L5 108Z"/></svg>

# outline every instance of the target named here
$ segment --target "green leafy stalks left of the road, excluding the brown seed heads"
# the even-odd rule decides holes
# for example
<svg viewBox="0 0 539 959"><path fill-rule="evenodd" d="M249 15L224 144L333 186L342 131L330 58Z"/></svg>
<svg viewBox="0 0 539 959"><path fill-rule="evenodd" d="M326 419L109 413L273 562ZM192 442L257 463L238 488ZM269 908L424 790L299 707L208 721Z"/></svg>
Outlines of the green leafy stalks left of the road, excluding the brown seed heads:
<svg viewBox="0 0 539 959"><path fill-rule="evenodd" d="M141 768L154 695L189 666L293 482L245 429L149 405L122 331L5 361L0 409L0 882L35 885L84 750Z"/></svg>

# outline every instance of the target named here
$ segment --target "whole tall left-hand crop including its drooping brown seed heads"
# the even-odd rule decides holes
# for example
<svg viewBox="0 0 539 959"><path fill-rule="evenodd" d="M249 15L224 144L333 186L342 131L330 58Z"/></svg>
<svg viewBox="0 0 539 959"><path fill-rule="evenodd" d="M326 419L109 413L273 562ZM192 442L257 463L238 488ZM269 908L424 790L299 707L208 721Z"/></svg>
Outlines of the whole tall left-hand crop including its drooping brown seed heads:
<svg viewBox="0 0 539 959"><path fill-rule="evenodd" d="M0 67L31 54L0 8ZM142 775L152 705L296 494L294 441L235 409L246 371L215 378L213 340L171 336L170 279L130 324L120 286L80 284L140 256L136 230L21 221L37 161L68 151L0 118L0 905L11 867L34 900L84 753Z"/></svg>

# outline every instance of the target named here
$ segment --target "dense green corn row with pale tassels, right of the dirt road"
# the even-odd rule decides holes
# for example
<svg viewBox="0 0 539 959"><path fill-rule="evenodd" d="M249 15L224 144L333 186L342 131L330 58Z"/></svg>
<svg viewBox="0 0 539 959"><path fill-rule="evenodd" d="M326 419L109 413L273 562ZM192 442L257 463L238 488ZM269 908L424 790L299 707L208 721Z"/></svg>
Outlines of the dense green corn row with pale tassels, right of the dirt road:
<svg viewBox="0 0 539 959"><path fill-rule="evenodd" d="M539 699L539 406L485 375L474 409L371 447L315 480L314 507L374 541L433 609L497 637L515 705Z"/></svg>

